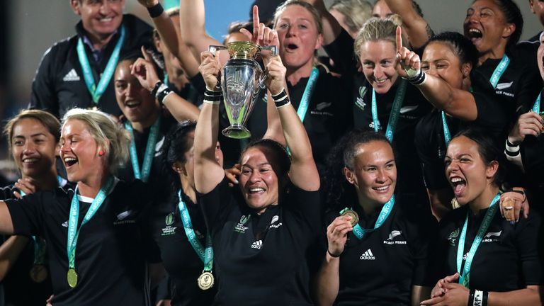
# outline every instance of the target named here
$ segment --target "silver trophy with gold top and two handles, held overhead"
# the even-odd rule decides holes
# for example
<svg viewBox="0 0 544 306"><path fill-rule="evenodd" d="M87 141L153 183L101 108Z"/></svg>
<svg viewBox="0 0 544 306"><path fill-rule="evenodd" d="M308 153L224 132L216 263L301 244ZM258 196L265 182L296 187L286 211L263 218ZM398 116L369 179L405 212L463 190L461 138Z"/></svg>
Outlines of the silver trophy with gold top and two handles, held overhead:
<svg viewBox="0 0 544 306"><path fill-rule="evenodd" d="M277 55L278 50L276 46L260 46L253 42L229 42L226 47L211 45L209 50L214 56L217 50L228 50L230 55L230 60L222 69L220 81L230 123L222 133L236 139L251 137L251 132L244 125L267 77L255 59L261 50L270 50L272 55Z"/></svg>

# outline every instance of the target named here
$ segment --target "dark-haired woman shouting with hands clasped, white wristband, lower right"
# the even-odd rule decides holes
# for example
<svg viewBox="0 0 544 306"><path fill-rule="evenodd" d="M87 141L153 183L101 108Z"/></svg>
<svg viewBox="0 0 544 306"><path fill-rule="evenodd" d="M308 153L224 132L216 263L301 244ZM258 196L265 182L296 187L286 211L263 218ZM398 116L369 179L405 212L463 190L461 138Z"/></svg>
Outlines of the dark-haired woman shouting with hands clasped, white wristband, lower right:
<svg viewBox="0 0 544 306"><path fill-rule="evenodd" d="M502 166L501 150L480 130L449 143L446 177L461 208L440 222L432 268L441 280L421 305L540 305L540 216L503 220Z"/></svg>

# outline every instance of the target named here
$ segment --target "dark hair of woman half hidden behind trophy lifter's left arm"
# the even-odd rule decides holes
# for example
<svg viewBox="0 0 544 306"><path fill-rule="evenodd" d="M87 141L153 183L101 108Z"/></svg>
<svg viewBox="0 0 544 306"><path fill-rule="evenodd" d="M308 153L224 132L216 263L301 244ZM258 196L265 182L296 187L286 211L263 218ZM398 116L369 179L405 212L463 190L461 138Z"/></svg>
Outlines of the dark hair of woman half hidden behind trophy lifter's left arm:
<svg viewBox="0 0 544 306"><path fill-rule="evenodd" d="M196 122L186 120L174 125L164 137L162 145L162 167L163 173L169 174L169 180L173 190L181 188L179 175L172 170L172 164L175 162L185 163L186 152L193 147L193 141L190 141L187 135L196 128Z"/></svg>

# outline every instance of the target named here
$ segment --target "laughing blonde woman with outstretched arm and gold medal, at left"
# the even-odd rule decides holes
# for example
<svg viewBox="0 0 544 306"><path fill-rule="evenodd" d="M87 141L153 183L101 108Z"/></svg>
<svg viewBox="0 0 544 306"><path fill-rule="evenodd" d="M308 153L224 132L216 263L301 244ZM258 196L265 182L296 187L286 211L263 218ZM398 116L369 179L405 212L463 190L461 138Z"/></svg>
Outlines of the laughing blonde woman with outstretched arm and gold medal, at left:
<svg viewBox="0 0 544 306"><path fill-rule="evenodd" d="M60 157L75 190L0 201L0 232L45 238L52 305L147 305L147 264L154 271L159 261L147 230L152 193L115 178L130 138L106 113L78 108L61 131Z"/></svg>

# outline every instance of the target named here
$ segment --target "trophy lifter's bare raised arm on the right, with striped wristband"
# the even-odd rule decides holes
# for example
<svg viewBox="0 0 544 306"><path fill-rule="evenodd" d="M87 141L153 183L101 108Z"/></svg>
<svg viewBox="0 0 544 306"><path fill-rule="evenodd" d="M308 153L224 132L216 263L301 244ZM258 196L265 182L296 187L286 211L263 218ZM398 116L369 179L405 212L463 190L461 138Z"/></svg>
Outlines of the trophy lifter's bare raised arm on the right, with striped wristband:
<svg viewBox="0 0 544 306"><path fill-rule="evenodd" d="M285 103L285 99L288 99L283 89L286 69L279 55L271 57L266 69L268 70L267 87L276 103L283 136L291 153L290 180L302 190L317 191L319 174L312 155L312 145L295 108L291 103Z"/></svg>

